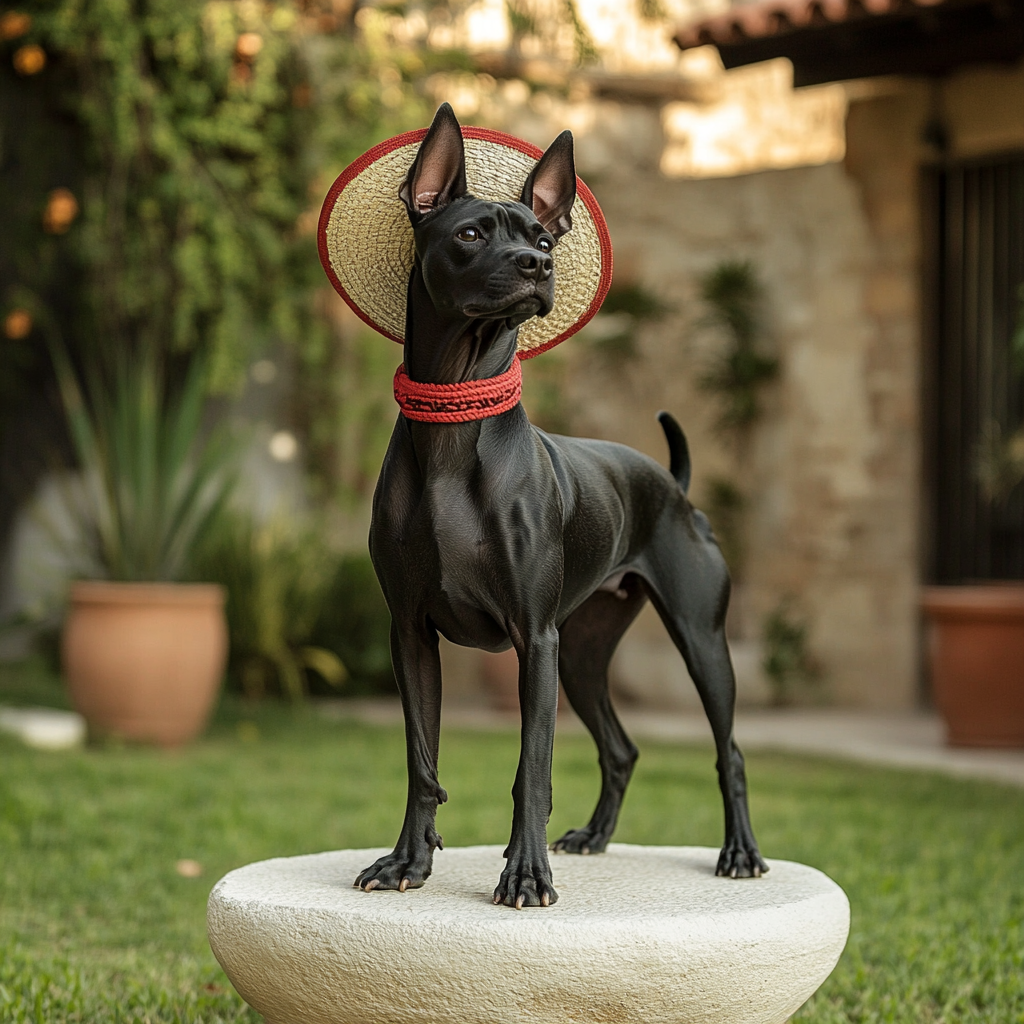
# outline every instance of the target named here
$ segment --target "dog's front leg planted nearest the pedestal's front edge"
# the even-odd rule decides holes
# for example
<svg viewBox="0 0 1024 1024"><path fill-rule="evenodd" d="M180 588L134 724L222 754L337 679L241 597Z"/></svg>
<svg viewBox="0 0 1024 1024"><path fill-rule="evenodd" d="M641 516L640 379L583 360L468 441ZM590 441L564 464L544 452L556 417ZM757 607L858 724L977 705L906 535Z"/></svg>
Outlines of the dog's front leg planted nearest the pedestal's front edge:
<svg viewBox="0 0 1024 1024"><path fill-rule="evenodd" d="M519 654L519 707L522 745L512 786L512 837L495 902L549 906L558 899L548 862L547 825L551 816L551 752L558 711L558 631L513 637Z"/></svg>

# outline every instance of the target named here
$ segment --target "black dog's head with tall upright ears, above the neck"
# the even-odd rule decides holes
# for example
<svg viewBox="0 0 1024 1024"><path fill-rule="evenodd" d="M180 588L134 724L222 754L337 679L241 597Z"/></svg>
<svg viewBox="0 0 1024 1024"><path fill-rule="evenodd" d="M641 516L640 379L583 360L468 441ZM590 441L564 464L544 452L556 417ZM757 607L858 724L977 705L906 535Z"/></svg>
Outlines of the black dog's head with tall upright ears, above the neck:
<svg viewBox="0 0 1024 1024"><path fill-rule="evenodd" d="M507 319L515 327L551 311L551 251L572 227L571 132L551 143L518 203L493 203L469 194L462 131L443 103L398 195L413 222L427 294L439 312Z"/></svg>

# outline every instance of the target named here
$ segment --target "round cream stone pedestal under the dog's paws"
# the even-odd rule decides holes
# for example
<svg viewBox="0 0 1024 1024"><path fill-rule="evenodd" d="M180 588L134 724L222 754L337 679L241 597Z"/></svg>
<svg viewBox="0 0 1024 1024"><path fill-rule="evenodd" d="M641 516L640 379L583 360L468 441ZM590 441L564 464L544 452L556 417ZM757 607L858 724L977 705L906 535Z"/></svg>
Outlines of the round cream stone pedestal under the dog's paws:
<svg viewBox="0 0 1024 1024"><path fill-rule="evenodd" d="M559 900L490 894L502 847L434 856L422 889L365 893L386 850L266 860L210 894L210 945L268 1024L781 1024L836 966L850 905L820 871L715 877L718 851L552 855Z"/></svg>

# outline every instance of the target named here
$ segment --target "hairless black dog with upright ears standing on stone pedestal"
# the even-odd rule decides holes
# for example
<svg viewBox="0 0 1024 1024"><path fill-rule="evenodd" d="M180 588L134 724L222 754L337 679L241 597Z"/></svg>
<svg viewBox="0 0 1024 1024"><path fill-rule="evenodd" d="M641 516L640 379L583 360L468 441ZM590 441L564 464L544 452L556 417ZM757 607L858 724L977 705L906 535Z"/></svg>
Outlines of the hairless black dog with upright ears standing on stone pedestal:
<svg viewBox="0 0 1024 1024"><path fill-rule="evenodd" d="M400 190L416 237L404 366L416 382L484 380L507 371L517 328L552 308L549 255L571 227L572 136L563 132L519 203L470 196L452 108L437 112ZM671 474L621 444L551 436L521 404L470 423L398 417L374 496L370 550L391 609L391 654L406 714L409 802L394 852L355 885L415 888L441 838L437 781L441 677L437 634L519 655L522 749L512 836L495 902L548 906L545 834L558 677L600 754L589 824L553 849L600 853L615 826L637 750L608 699L607 666L649 597L711 720L725 802L718 873L759 876L724 620L729 577L708 520L686 500L689 456L660 415Z"/></svg>

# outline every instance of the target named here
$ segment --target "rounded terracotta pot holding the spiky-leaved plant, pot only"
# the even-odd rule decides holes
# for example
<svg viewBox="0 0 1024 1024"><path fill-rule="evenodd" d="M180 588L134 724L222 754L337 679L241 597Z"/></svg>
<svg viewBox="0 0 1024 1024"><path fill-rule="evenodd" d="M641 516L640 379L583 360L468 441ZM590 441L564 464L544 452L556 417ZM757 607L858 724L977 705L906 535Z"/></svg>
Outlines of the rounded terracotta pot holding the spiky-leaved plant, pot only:
<svg viewBox="0 0 1024 1024"><path fill-rule="evenodd" d="M77 583L61 652L72 703L91 732L186 742L206 725L224 674L224 590Z"/></svg>

